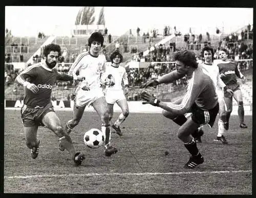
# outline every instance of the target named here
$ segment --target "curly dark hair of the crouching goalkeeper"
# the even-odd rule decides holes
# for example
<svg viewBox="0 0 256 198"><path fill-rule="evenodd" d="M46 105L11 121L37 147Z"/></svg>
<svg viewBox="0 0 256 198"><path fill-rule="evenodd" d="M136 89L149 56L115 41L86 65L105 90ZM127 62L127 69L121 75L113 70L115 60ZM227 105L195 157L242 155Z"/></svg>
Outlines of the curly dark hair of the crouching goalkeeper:
<svg viewBox="0 0 256 198"><path fill-rule="evenodd" d="M196 54L194 52L188 50L179 51L175 53L174 59L184 63L186 66L194 68L198 67Z"/></svg>

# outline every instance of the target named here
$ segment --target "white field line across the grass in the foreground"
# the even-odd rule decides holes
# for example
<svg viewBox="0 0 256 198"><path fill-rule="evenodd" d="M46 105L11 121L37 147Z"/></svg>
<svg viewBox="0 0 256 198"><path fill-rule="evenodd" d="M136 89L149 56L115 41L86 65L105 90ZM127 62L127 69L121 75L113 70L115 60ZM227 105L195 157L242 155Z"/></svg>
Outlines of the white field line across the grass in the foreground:
<svg viewBox="0 0 256 198"><path fill-rule="evenodd" d="M225 170L225 171L193 171L193 172L142 172L142 173L89 173L89 174L62 174L62 175L31 175L31 176L5 176L5 179L26 179L26 178L52 178L52 177L84 177L84 176L148 176L148 175L193 175L193 174L232 174L240 172L252 172L252 170Z"/></svg>

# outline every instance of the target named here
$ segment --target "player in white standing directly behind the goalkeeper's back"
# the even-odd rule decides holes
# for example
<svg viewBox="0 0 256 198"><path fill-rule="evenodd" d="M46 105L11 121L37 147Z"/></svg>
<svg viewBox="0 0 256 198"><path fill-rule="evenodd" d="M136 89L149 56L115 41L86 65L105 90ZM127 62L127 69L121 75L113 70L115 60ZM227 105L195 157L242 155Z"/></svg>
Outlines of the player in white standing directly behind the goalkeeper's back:
<svg viewBox="0 0 256 198"><path fill-rule="evenodd" d="M220 78L219 67L212 63L214 60L214 50L205 46L201 52L201 56L203 57L204 62L201 64L204 73L206 73L211 80L214 82L216 87L216 93L218 95L219 101L219 121L218 121L218 134L217 140L222 142L223 144L227 144L227 140L223 135L225 133L225 124L226 124L226 111L225 111L225 101L224 101L224 92L228 92L230 94L233 93L232 90L228 89L225 83Z"/></svg>

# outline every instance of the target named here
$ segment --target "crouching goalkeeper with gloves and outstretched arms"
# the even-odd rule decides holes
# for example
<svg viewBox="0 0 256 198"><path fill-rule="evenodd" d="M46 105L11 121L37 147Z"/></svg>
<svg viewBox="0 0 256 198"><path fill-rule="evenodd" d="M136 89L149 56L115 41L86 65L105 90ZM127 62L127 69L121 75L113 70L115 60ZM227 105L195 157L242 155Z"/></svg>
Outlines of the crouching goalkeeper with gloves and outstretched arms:
<svg viewBox="0 0 256 198"><path fill-rule="evenodd" d="M193 52L180 51L175 54L176 68L170 73L162 76L158 80L146 82L142 88L148 86L156 87L158 84L174 82L185 75L188 79L188 87L184 97L179 100L166 104L143 91L142 99L146 102L142 104L151 104L161 107L163 115L172 119L181 127L178 130L178 137L184 143L184 146L191 154L185 168L195 168L204 162L204 158L198 150L197 143L193 137L197 128L202 125L214 125L216 116L219 111L218 96L215 91L214 83L206 75L201 66L198 65L196 56ZM185 113L191 112L188 118Z"/></svg>

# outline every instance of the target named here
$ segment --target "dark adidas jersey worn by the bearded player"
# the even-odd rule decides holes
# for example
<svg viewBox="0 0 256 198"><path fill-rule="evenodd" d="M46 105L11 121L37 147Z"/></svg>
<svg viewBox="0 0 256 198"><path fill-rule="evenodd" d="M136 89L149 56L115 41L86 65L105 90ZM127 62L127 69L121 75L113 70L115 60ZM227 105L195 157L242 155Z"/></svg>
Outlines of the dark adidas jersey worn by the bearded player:
<svg viewBox="0 0 256 198"><path fill-rule="evenodd" d="M72 80L73 77L59 73L55 68L50 69L40 62L29 66L16 78L17 82L23 84L26 80L35 84L39 91L33 93L25 88L24 104L30 107L45 107L51 102L52 88L56 80Z"/></svg>

